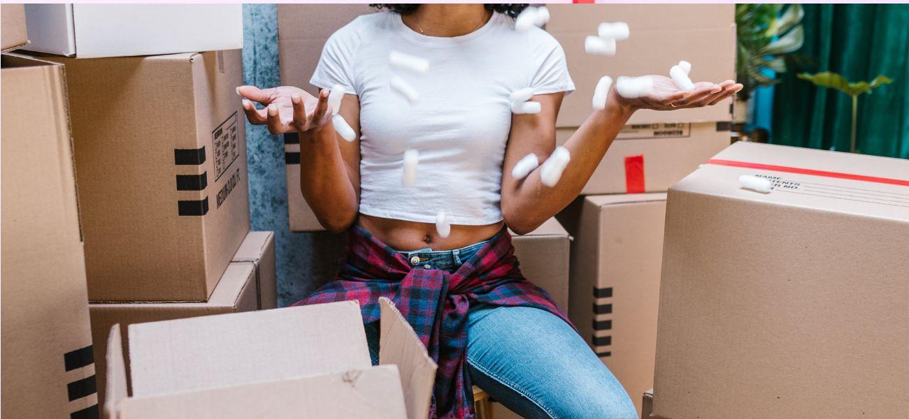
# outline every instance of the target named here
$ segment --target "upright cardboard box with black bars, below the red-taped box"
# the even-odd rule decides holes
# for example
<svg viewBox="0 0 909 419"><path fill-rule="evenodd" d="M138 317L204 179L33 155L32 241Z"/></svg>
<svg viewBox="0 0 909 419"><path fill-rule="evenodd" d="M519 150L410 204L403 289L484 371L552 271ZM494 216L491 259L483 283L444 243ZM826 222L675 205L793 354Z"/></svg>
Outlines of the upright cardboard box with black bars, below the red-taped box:
<svg viewBox="0 0 909 419"><path fill-rule="evenodd" d="M665 193L636 193L587 196L559 215L574 237L568 317L629 395L654 386L665 212Z"/></svg>

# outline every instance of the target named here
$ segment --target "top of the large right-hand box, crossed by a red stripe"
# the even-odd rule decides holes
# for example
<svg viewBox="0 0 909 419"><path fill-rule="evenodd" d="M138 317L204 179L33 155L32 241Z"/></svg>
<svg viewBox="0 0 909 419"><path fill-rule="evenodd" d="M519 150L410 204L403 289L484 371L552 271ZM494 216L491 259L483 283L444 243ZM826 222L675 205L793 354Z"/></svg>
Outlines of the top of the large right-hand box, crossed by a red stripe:
<svg viewBox="0 0 909 419"><path fill-rule="evenodd" d="M768 178L773 190L745 190L741 175ZM909 221L909 161L900 159L739 141L671 191Z"/></svg>

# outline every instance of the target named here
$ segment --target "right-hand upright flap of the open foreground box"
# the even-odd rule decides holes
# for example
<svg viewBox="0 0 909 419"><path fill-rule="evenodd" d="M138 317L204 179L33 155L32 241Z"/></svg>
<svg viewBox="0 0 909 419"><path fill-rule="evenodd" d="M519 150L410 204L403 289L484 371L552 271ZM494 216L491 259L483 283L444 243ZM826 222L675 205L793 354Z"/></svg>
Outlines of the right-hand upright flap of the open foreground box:
<svg viewBox="0 0 909 419"><path fill-rule="evenodd" d="M407 320L385 297L379 298L379 364L397 365L404 388L407 417L422 419L429 414L436 365Z"/></svg>

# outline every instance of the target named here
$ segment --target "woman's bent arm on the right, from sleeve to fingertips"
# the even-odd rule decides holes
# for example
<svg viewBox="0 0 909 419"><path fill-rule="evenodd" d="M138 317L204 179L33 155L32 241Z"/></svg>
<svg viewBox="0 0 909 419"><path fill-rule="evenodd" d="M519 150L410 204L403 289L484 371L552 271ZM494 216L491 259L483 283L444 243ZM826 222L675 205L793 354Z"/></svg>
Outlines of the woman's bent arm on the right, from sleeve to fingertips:
<svg viewBox="0 0 909 419"><path fill-rule="evenodd" d="M594 111L564 143L564 148L571 152L571 161L552 188L540 181L540 168L523 180L514 179L511 174L514 164L527 154L533 152L542 164L555 149L555 118L564 93L534 96L532 100L542 104L541 112L512 117L502 173L501 205L505 224L515 233L526 234L571 203L584 189L615 136L634 111L705 106L722 101L741 89L741 84L727 81L720 84L698 83L694 92L680 92L671 80L666 83L663 79L666 78L654 82L656 93L638 99L625 99L613 89L605 109Z"/></svg>

